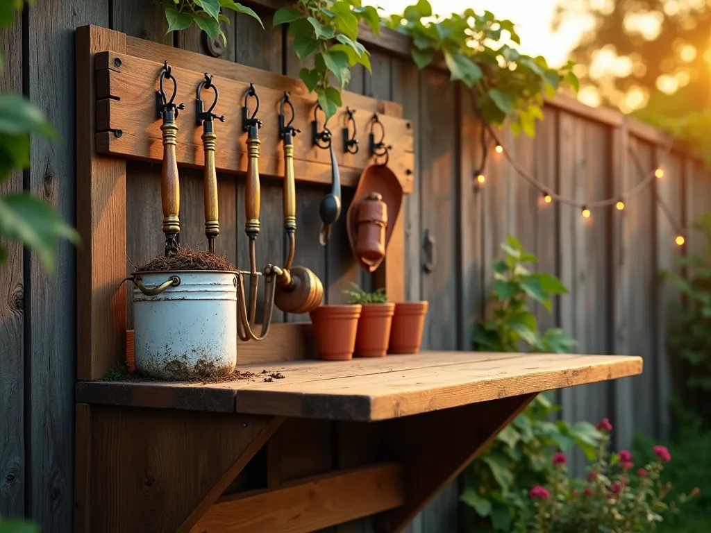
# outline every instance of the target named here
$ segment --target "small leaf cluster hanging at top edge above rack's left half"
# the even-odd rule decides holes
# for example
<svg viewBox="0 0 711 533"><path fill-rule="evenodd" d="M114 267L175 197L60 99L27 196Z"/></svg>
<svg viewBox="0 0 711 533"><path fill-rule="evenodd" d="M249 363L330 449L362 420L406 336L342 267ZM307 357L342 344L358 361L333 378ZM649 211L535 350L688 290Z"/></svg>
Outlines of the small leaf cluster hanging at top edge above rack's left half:
<svg viewBox="0 0 711 533"><path fill-rule="evenodd" d="M163 0L163 9L168 21L168 32L190 28L193 22L210 38L220 36L225 45L227 37L220 27L220 22L230 23L223 10L229 9L256 18L262 28L262 19L247 6L234 0Z"/></svg>

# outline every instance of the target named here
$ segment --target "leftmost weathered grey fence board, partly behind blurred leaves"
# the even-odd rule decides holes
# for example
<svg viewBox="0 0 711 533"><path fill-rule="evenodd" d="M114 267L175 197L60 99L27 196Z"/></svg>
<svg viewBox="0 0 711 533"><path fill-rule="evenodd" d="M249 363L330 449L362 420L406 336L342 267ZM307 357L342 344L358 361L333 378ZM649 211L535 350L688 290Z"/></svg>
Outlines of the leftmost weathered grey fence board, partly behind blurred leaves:
<svg viewBox="0 0 711 533"><path fill-rule="evenodd" d="M2 92L22 92L22 16L0 33L4 66ZM22 192L22 172L12 171L0 183L0 196ZM0 516L25 512L24 279L22 245L3 239L7 257L0 265Z"/></svg>

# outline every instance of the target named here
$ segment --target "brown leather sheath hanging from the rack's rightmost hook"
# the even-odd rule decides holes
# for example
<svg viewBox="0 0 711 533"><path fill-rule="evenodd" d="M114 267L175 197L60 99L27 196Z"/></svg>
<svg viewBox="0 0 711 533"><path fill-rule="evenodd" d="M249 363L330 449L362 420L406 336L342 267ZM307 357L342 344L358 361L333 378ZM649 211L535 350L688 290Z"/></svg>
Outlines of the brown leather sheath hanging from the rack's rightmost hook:
<svg viewBox="0 0 711 533"><path fill-rule="evenodd" d="M385 259L401 205L402 185L395 173L385 165L365 168L346 216L348 241L363 269L373 272Z"/></svg>

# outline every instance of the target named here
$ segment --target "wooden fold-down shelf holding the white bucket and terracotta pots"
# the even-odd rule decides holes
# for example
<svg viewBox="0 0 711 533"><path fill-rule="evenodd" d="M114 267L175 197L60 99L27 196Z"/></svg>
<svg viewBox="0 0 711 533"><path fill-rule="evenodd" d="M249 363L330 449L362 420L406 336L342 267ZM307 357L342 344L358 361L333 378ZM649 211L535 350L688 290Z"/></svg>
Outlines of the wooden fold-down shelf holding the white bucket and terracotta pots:
<svg viewBox="0 0 711 533"><path fill-rule="evenodd" d="M374 421L640 374L641 357L423 352L247 365L229 383L80 382L77 402ZM262 373L264 370L267 373ZM264 382L268 373L283 378Z"/></svg>

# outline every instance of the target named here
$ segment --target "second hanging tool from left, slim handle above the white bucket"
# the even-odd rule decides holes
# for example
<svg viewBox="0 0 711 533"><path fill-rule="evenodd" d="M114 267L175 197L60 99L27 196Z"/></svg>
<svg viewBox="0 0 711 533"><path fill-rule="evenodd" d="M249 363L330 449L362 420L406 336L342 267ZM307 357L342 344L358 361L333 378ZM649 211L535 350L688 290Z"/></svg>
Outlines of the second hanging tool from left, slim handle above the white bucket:
<svg viewBox="0 0 711 533"><path fill-rule="evenodd" d="M205 111L203 89L212 89L215 93L213 104ZM218 176L215 171L215 135L214 120L225 122L225 115L218 117L213 113L218 103L218 88L213 84L213 77L205 72L205 80L198 84L196 97L196 121L198 126L203 126L203 150L205 151L205 237L208 238L208 250L215 253L215 238L220 235L220 222L218 221Z"/></svg>

